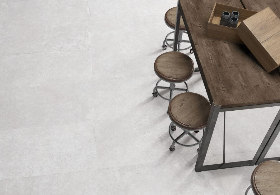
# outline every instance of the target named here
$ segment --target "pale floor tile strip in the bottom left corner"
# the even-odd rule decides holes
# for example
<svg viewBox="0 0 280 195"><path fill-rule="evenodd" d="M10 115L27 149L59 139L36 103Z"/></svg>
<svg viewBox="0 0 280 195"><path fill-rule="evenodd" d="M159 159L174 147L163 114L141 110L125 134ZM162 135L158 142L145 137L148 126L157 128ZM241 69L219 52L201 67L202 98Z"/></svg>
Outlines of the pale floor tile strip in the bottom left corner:
<svg viewBox="0 0 280 195"><path fill-rule="evenodd" d="M99 194L97 171L22 177L0 181L3 194Z"/></svg>

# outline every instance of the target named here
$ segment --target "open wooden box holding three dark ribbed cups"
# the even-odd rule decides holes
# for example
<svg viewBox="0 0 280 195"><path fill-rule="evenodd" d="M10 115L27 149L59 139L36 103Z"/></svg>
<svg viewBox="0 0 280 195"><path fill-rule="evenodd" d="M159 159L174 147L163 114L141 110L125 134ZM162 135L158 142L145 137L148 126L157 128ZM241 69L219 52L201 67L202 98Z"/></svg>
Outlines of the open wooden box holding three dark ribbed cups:
<svg viewBox="0 0 280 195"><path fill-rule="evenodd" d="M239 19L237 26L245 19L258 13L257 11L247 10L239 7L228 6L220 3L215 3L211 16L207 23L206 36L212 38L219 38L230 42L244 44L236 34L236 28L220 25L222 13L224 11L239 12Z"/></svg>

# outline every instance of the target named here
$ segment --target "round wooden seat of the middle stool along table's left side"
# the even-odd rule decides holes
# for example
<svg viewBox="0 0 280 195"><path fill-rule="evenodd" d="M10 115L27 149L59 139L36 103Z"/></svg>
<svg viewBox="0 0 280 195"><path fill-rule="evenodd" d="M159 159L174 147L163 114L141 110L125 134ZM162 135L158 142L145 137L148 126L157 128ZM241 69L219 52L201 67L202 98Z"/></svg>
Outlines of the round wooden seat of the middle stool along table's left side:
<svg viewBox="0 0 280 195"><path fill-rule="evenodd" d="M161 54L155 61L155 72L168 82L184 82L194 73L194 62L186 54L169 51Z"/></svg>

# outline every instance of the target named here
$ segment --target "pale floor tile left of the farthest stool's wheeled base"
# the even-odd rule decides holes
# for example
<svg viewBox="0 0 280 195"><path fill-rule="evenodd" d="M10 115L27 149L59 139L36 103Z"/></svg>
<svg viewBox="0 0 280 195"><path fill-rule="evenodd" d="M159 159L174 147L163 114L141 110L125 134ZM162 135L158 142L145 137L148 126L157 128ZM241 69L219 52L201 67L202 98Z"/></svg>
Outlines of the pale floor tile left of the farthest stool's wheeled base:
<svg viewBox="0 0 280 195"><path fill-rule="evenodd" d="M172 51L171 48L166 51L161 48L166 34L172 31L166 26L162 16L117 16L111 18L112 22L103 29L102 24L107 20L104 18L96 21L94 18L91 22L93 75L96 80L153 75L156 58L164 52ZM144 25L147 28L142 28ZM152 28L156 29L153 36ZM114 36L117 38L112 39ZM173 34L170 38L173 38ZM188 39L187 36L184 38ZM189 45L188 43L187 46Z"/></svg>

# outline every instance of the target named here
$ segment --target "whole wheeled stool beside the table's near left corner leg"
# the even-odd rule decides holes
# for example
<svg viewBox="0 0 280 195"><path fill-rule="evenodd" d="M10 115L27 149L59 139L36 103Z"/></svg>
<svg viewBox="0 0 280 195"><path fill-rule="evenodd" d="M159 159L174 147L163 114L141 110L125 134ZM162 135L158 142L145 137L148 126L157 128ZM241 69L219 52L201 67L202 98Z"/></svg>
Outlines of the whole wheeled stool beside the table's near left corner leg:
<svg viewBox="0 0 280 195"><path fill-rule="evenodd" d="M173 140L170 146L170 151L175 150L175 143L181 146L191 147L199 145L197 152L199 152L202 138L198 140L190 131L198 133L199 130L203 129L207 124L208 115L210 113L211 105L210 102L197 93L181 93L176 95L169 103L168 115L171 123L169 125L169 135ZM172 136L172 131L176 130L176 126L183 130L183 133L177 138ZM179 140L184 136L189 135L196 141L194 144L182 144ZM202 136L203 137L203 136Z"/></svg>

